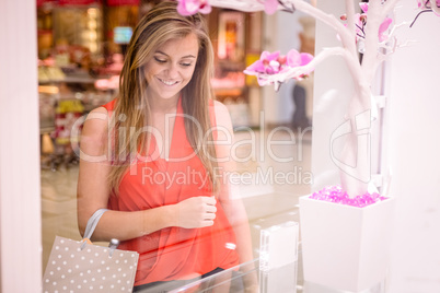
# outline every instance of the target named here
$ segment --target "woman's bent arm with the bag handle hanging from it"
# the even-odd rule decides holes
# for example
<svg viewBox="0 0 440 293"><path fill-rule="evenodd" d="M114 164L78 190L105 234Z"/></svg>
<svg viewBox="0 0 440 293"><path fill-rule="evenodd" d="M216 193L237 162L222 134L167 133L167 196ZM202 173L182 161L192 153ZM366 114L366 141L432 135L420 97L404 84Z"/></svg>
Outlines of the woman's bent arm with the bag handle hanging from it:
<svg viewBox="0 0 440 293"><path fill-rule="evenodd" d="M80 172L78 178L78 225L83 235L86 222L99 209L107 208L111 190L107 176L108 115L105 108L92 110L81 136ZM208 203L208 204L206 204ZM107 211L93 234L94 241L117 238L127 241L169 226L202 227L212 225L206 213L215 199L197 197L177 204L163 206L136 212Z"/></svg>

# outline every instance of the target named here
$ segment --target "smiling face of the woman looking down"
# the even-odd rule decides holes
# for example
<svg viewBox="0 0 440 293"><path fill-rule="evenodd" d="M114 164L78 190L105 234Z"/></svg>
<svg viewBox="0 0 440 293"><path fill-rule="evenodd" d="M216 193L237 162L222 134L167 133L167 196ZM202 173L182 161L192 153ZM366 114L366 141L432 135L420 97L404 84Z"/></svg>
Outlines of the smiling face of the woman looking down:
<svg viewBox="0 0 440 293"><path fill-rule="evenodd" d="M160 46L143 67L149 98L178 98L193 77L198 54L198 39L189 34Z"/></svg>

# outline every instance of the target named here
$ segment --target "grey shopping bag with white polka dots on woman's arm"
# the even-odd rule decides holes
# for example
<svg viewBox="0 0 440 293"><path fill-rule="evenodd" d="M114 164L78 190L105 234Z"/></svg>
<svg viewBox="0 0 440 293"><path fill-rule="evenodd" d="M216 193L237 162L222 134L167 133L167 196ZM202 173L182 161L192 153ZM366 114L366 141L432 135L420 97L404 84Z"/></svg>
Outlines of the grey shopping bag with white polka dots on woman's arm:
<svg viewBox="0 0 440 293"><path fill-rule="evenodd" d="M131 292L139 255L88 239L106 209L89 220L81 242L57 236L43 277L43 292Z"/></svg>

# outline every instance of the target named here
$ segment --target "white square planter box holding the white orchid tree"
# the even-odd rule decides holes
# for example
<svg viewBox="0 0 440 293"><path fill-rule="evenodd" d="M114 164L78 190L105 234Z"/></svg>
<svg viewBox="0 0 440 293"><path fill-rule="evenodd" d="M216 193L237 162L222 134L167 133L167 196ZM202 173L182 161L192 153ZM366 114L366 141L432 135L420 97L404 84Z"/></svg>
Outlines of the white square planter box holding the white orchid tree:
<svg viewBox="0 0 440 293"><path fill-rule="evenodd" d="M359 292L383 281L394 198L366 208L300 198L304 280Z"/></svg>

